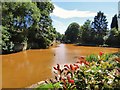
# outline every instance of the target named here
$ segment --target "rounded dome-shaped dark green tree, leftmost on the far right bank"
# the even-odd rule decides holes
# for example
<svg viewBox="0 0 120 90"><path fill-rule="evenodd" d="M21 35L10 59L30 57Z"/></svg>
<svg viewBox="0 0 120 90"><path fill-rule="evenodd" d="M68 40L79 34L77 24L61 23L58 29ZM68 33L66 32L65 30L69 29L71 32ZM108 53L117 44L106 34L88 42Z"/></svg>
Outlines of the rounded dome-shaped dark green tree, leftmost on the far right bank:
<svg viewBox="0 0 120 90"><path fill-rule="evenodd" d="M65 40L67 43L75 43L79 38L80 26L79 24L73 22L71 23L67 30L65 31Z"/></svg>

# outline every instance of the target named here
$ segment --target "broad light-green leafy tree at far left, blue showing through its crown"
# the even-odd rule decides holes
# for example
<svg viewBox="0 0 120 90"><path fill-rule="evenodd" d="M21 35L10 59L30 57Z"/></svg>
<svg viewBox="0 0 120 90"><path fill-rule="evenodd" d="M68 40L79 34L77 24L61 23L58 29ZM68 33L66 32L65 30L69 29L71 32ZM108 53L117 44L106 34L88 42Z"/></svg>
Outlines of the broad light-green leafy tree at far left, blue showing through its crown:
<svg viewBox="0 0 120 90"><path fill-rule="evenodd" d="M40 16L40 10L32 2L2 3L2 26L8 29L9 41L15 46L27 42L27 32L30 27L39 28L37 23Z"/></svg>

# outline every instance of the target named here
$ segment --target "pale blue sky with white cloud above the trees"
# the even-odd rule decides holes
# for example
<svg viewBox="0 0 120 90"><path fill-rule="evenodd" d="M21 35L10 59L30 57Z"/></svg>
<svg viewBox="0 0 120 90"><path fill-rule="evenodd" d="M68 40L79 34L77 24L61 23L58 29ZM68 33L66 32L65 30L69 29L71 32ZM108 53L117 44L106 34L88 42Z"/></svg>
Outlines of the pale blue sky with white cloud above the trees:
<svg viewBox="0 0 120 90"><path fill-rule="evenodd" d="M102 11L107 17L108 28L110 28L112 17L118 14L118 1L109 1L111 2L108 2L108 0L106 2L105 0L102 0L102 2L100 0L98 2L95 2L95 0L91 0L91 2L87 0L84 0L84 2L83 0L66 0L66 2L52 0L55 7L53 13L51 13L53 26L58 32L64 34L70 23L77 22L81 26L87 19L93 21L97 12Z"/></svg>

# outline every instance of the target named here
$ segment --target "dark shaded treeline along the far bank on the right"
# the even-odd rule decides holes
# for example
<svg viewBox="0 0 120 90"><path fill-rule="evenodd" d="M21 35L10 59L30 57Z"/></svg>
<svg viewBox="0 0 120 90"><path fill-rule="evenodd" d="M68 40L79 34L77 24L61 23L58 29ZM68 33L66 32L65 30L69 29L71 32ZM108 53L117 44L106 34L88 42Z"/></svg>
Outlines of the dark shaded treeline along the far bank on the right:
<svg viewBox="0 0 120 90"><path fill-rule="evenodd" d="M118 29L117 15L111 22L111 29L103 12L99 11L94 21L87 20L82 26L71 23L64 36L65 43L79 45L120 47L120 29Z"/></svg>

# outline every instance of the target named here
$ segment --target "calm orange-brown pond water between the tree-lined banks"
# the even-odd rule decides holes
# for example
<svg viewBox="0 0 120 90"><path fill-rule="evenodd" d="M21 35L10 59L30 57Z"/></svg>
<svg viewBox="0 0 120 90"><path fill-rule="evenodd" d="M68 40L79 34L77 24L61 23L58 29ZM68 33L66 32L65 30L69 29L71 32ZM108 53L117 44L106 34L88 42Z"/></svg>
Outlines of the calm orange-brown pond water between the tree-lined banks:
<svg viewBox="0 0 120 90"><path fill-rule="evenodd" d="M52 77L52 67L73 63L79 56L114 53L118 48L74 46L60 44L50 49L27 50L2 56L2 87L22 88Z"/></svg>

